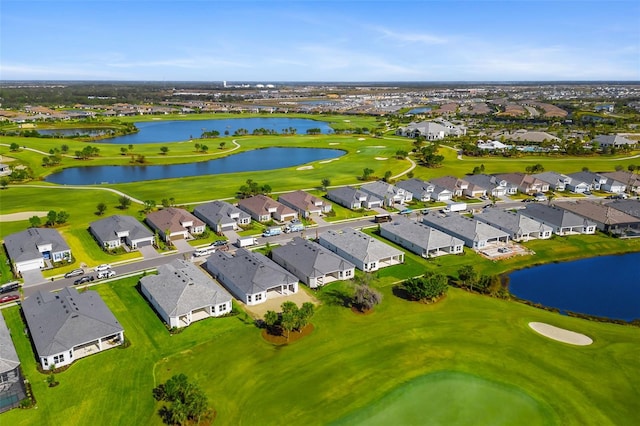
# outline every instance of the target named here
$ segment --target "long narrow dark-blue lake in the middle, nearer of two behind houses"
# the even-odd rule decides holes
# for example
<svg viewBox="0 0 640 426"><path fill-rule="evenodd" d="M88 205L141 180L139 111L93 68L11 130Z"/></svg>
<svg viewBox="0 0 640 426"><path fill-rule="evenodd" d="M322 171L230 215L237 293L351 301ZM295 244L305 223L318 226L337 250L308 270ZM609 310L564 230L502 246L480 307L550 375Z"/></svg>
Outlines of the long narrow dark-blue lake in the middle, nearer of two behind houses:
<svg viewBox="0 0 640 426"><path fill-rule="evenodd" d="M127 183L190 176L282 169L344 155L338 149L265 148L215 160L156 166L70 167L45 178L61 185Z"/></svg>

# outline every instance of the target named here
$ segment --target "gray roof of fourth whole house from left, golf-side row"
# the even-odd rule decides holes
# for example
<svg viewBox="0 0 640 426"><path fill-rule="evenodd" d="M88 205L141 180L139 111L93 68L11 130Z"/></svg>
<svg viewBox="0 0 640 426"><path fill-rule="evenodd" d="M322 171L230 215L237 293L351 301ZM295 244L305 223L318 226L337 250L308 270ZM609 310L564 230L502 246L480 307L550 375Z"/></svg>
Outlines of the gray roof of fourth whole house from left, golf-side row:
<svg viewBox="0 0 640 426"><path fill-rule="evenodd" d="M288 244L272 251L307 277L321 277L335 271L355 268L355 265L313 241L294 237Z"/></svg>

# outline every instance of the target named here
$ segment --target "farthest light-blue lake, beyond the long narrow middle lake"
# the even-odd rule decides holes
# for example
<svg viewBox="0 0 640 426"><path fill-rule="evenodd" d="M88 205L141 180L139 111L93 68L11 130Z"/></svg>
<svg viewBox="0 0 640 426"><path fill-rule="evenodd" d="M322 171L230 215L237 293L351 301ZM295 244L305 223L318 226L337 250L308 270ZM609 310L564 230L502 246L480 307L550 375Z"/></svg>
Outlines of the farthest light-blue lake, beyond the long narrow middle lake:
<svg viewBox="0 0 640 426"><path fill-rule="evenodd" d="M295 129L297 134L306 134L309 129L320 129L322 133L332 133L333 129L324 121L307 118L230 118L223 120L154 120L135 123L138 132L102 142L115 144L141 144L178 142L198 139L204 132L218 131L220 136L233 136L238 129L245 129L252 134L256 129L266 129L279 134L290 133Z"/></svg>

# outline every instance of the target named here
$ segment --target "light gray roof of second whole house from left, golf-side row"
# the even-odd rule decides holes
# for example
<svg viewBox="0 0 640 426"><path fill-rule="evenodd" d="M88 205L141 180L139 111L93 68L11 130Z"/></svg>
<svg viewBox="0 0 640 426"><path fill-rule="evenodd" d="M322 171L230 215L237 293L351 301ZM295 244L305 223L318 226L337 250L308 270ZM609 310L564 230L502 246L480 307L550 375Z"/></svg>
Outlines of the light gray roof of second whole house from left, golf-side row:
<svg viewBox="0 0 640 426"><path fill-rule="evenodd" d="M231 294L191 262L175 259L160 265L157 275L140 279L158 305L171 317L231 301Z"/></svg>

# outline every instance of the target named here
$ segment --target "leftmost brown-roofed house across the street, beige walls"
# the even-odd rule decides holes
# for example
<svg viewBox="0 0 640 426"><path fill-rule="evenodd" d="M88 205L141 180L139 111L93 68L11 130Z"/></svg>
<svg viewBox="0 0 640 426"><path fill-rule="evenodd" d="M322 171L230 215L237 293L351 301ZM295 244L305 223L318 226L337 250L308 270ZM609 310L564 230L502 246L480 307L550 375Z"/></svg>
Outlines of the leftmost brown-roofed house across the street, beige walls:
<svg viewBox="0 0 640 426"><path fill-rule="evenodd" d="M149 213L145 220L164 241L190 240L194 235L202 234L206 230L203 221L185 209L177 207Z"/></svg>

